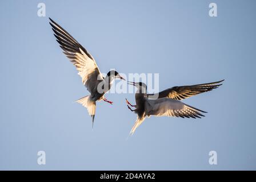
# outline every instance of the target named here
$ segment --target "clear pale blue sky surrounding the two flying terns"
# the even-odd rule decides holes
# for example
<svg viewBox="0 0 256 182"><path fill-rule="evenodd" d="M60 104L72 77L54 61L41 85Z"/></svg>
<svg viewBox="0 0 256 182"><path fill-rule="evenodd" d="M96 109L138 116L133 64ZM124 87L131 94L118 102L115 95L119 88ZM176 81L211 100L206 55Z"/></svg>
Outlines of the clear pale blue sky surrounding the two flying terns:
<svg viewBox="0 0 256 182"><path fill-rule="evenodd" d="M46 5L46 17L37 5ZM209 16L217 3L218 16ZM255 1L5 1L1 19L0 169L256 169ZM125 98L97 103L94 130L74 66L47 17L70 32L102 72L159 73L159 89L225 78L184 100L202 119L136 115ZM37 152L46 164L37 164ZM217 151L218 164L209 164Z"/></svg>

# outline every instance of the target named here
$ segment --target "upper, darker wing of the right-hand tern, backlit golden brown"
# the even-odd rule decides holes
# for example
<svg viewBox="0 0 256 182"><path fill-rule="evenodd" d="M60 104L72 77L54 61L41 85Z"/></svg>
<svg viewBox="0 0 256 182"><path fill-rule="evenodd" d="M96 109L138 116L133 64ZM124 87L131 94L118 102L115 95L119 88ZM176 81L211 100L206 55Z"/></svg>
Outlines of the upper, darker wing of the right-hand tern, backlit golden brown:
<svg viewBox="0 0 256 182"><path fill-rule="evenodd" d="M174 86L173 88L169 88L163 90L162 92L156 94L147 94L149 98L173 98L175 100L183 100L185 98L189 98L191 96L195 96L199 93L209 92L222 84L219 84L221 81L211 82L207 84L198 84L198 85L188 85L188 86Z"/></svg>

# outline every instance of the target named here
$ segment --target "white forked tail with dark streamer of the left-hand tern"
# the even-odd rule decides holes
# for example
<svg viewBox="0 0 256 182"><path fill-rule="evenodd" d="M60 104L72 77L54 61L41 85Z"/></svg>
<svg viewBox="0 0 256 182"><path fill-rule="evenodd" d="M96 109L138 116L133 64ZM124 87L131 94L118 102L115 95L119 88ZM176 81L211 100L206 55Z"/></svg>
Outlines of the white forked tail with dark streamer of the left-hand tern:
<svg viewBox="0 0 256 182"><path fill-rule="evenodd" d="M91 96L89 95L89 96L82 97L75 102L78 102L87 108L87 111L88 111L89 115L91 116L91 118L93 119L93 123L94 123L96 102L91 100Z"/></svg>

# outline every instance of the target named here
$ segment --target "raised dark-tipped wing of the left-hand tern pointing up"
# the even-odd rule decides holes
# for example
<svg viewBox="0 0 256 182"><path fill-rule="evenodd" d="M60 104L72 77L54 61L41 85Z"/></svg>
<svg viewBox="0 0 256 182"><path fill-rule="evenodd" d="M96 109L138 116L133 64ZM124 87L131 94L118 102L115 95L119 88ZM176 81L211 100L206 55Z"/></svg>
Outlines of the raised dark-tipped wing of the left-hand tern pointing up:
<svg viewBox="0 0 256 182"><path fill-rule="evenodd" d="M63 49L63 53L75 65L78 75L82 77L82 82L89 92L93 92L97 87L98 81L103 80L93 56L59 24L51 18L49 19L50 25L53 27L54 36L59 46Z"/></svg>

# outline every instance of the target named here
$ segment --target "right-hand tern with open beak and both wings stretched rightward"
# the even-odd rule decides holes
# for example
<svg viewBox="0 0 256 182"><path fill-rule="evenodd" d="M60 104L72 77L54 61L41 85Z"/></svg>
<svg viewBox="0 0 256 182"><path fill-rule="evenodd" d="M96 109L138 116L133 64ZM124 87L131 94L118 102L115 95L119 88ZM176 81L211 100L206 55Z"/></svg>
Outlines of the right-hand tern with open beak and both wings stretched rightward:
<svg viewBox="0 0 256 182"><path fill-rule="evenodd" d="M130 85L137 87L137 92L135 93L136 105L131 105L126 99L127 107L134 111L138 117L135 122L133 129L131 129L130 134L133 135L134 131L139 125L144 121L146 117L151 115L155 116L169 116L169 117L182 117L182 118L201 118L204 117L202 113L206 113L200 109L184 104L179 100L195 96L199 93L209 92L218 86L222 81L211 82L207 84L198 84L190 86L174 86L163 90L162 92L156 94L147 94L147 85L143 82L128 82ZM131 107L135 109L131 109Z"/></svg>

